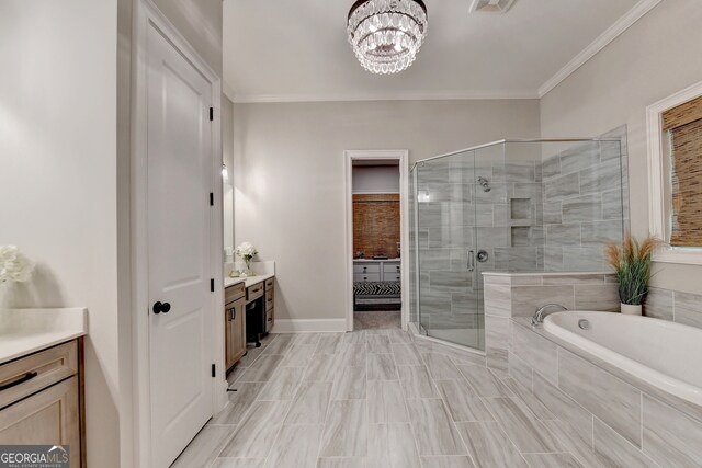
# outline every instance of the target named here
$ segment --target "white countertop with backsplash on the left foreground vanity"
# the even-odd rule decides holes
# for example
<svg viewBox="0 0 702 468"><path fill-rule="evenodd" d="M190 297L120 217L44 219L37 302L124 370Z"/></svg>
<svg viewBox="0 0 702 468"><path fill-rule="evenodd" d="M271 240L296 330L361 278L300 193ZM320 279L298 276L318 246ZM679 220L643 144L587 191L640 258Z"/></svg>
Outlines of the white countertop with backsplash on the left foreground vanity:
<svg viewBox="0 0 702 468"><path fill-rule="evenodd" d="M88 332L88 309L0 309L0 364Z"/></svg>

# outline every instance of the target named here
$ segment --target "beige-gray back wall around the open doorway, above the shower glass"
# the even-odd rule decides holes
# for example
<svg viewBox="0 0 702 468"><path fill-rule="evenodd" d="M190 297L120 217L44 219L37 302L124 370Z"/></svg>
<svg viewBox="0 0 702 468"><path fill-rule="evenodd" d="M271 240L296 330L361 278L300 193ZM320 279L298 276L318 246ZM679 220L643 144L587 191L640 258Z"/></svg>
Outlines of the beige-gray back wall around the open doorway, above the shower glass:
<svg viewBox="0 0 702 468"><path fill-rule="evenodd" d="M344 150L416 161L540 134L530 100L235 104L234 126L236 242L276 262L283 319L344 317Z"/></svg>

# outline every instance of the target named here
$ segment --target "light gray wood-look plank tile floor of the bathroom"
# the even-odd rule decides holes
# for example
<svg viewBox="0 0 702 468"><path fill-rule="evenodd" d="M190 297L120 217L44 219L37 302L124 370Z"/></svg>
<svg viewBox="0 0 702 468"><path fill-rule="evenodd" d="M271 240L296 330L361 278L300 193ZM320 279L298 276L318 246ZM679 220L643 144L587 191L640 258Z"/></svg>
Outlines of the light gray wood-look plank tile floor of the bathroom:
<svg viewBox="0 0 702 468"><path fill-rule="evenodd" d="M442 351L399 329L270 335L173 466L582 466L519 384Z"/></svg>

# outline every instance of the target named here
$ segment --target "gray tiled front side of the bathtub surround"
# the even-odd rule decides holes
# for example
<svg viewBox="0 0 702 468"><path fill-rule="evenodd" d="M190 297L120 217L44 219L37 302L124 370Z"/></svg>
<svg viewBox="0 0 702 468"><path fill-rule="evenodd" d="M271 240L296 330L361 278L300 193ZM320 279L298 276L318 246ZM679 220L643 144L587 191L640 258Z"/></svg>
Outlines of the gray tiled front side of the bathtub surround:
<svg viewBox="0 0 702 468"><path fill-rule="evenodd" d="M526 317L510 327L510 377L582 466L702 466L702 407L531 327Z"/></svg>

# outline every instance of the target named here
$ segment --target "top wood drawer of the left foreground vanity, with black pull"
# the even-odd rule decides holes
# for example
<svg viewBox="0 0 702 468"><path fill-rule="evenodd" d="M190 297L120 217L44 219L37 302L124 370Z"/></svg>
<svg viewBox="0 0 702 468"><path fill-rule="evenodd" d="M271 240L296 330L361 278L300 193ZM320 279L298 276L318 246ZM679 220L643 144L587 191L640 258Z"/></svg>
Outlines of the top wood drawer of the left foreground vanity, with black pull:
<svg viewBox="0 0 702 468"><path fill-rule="evenodd" d="M0 408L76 374L76 340L3 364L0 366Z"/></svg>

